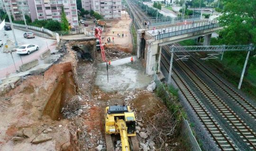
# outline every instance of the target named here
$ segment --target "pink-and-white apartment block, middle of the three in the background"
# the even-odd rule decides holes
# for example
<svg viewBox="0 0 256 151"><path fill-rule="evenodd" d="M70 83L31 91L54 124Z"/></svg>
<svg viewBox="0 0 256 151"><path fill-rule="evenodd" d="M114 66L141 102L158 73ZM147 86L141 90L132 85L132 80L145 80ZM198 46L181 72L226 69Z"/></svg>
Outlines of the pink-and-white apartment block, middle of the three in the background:
<svg viewBox="0 0 256 151"><path fill-rule="evenodd" d="M68 19L69 25L78 26L76 0L27 0L31 20L53 19L61 21L61 9Z"/></svg>

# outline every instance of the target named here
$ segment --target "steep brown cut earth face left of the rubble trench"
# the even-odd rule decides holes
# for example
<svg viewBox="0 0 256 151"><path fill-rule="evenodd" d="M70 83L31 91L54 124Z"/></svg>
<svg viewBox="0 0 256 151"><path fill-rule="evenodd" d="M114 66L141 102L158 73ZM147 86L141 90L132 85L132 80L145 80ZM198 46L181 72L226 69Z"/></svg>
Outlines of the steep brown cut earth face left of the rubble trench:
<svg viewBox="0 0 256 151"><path fill-rule="evenodd" d="M71 63L59 64L56 68L62 68L63 72L59 73L55 79L55 84L48 90L46 106L43 115L49 116L52 120L62 119L62 108L68 101L76 95L76 84L73 78Z"/></svg>

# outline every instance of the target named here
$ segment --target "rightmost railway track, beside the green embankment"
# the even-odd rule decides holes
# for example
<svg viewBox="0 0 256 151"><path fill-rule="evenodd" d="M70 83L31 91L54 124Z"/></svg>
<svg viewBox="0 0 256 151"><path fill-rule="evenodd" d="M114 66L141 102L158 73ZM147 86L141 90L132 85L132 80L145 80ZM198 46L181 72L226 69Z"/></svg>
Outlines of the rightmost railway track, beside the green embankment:
<svg viewBox="0 0 256 151"><path fill-rule="evenodd" d="M174 44L176 46L179 46L177 43ZM211 71L205 67L200 61L195 59L190 53L183 52L184 55L191 56L192 63L206 76L210 81L212 81L216 86L219 87L220 90L225 92L229 98L232 99L232 101L235 101L240 108L242 108L250 117L254 118L256 120L256 108L249 103L246 99L244 99L238 92L233 90L228 84L223 82L219 77L215 76L211 73Z"/></svg>

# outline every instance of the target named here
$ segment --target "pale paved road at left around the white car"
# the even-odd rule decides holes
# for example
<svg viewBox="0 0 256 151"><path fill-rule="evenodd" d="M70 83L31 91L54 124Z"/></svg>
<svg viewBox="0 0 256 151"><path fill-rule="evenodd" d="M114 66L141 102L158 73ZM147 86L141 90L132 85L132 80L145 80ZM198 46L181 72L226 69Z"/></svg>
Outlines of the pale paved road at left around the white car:
<svg viewBox="0 0 256 151"><path fill-rule="evenodd" d="M4 29L0 30L0 40L4 41L4 32L9 36L9 38L13 38L12 31L4 31ZM36 36L32 39L26 39L23 37L23 34L25 33L22 30L14 29L16 40L18 42L18 46L23 44L36 44L39 46L38 51L34 51L29 55L18 55L16 52L12 52L13 59L15 62L15 66L13 63L13 59L11 57L10 53L3 53L0 51L0 78L6 77L10 73L15 72L15 67L18 69L18 66L23 63L27 63L32 59L38 59L39 55L44 52L48 48L50 50L55 49L56 47L56 40L53 39L46 39L43 37ZM9 48L11 49L11 48ZM21 62L22 59L22 62Z"/></svg>

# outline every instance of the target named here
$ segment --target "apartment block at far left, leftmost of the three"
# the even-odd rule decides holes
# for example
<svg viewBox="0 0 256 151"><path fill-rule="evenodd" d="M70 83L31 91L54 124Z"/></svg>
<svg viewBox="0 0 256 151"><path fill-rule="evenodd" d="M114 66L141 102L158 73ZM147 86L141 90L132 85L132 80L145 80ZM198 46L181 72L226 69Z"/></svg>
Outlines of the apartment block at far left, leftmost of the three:
<svg viewBox="0 0 256 151"><path fill-rule="evenodd" d="M25 15L30 15L27 0L2 0L1 5L4 11L6 11L5 5L7 5L7 8L14 17L14 20L23 20L23 12Z"/></svg>

